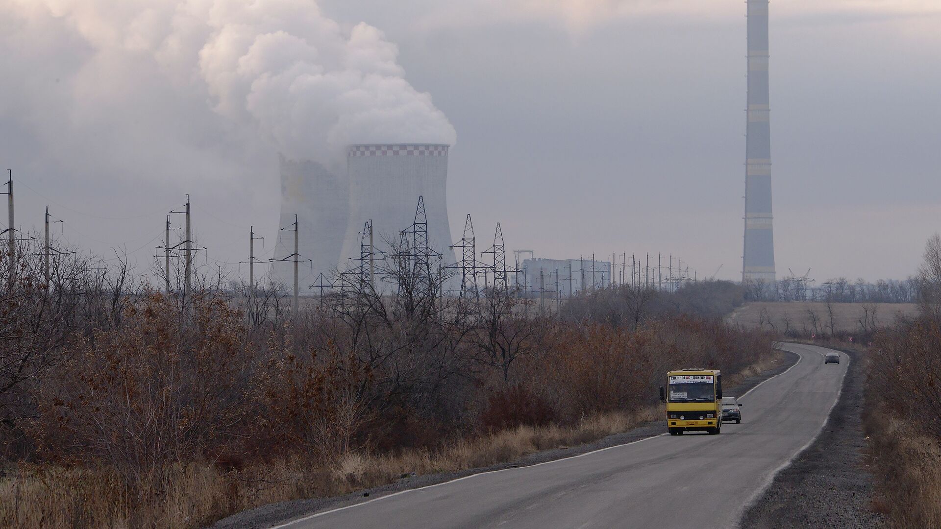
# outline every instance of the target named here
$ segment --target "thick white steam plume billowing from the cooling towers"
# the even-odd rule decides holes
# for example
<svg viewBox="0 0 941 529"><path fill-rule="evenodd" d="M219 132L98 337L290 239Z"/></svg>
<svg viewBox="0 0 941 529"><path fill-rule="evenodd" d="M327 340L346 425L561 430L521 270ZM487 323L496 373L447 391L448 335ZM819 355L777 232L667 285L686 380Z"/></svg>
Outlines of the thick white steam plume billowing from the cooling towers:
<svg viewBox="0 0 941 529"><path fill-rule="evenodd" d="M8 66L49 70L34 80L72 91L62 109L72 121L113 106L99 99L133 106L141 79L125 81L130 73L161 101L207 102L293 158L328 163L350 143L455 143L431 96L405 79L395 44L369 24L338 24L311 0L0 0L0 18L4 47L19 57ZM52 76L60 88L48 88ZM28 104L28 83L8 104Z"/></svg>

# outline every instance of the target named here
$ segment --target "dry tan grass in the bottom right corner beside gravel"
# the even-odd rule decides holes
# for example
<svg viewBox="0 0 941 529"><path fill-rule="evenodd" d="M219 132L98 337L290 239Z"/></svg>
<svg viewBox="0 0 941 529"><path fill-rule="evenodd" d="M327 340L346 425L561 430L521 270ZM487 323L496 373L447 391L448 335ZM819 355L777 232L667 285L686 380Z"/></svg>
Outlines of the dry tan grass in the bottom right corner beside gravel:
<svg viewBox="0 0 941 529"><path fill-rule="evenodd" d="M872 508L894 527L941 527L941 443L884 411L869 414L870 458L881 477Z"/></svg>

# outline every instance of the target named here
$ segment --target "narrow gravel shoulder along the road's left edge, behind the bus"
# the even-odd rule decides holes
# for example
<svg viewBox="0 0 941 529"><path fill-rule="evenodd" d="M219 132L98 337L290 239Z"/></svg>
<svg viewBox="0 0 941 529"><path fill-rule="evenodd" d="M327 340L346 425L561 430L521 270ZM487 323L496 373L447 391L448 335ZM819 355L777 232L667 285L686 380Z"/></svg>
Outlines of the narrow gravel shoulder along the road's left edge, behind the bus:
<svg viewBox="0 0 941 529"><path fill-rule="evenodd" d="M780 373L786 371L790 366L794 365L797 362L798 357L794 353L789 353L783 351L781 361L779 366L774 367L768 371L761 373L755 377L745 378L741 384L736 386L726 388L725 393L728 395L739 395L747 392L748 390L754 388L761 382L767 380L768 378L774 377ZM593 452L601 448L609 448L611 446L617 446L619 444L625 444L632 441L640 441L649 437L658 436L666 433L666 422L665 421L656 421L652 423L646 423L640 425L636 428L632 428L627 432L614 434L598 441L588 442L578 446L572 446L569 448L558 448L553 450L545 450L542 452L535 452L525 457L520 457L515 461L509 461L506 463L501 463L497 465L490 465L488 467L482 467L477 469L469 469L459 472L446 472L446 473L434 473L426 475L417 475L413 477L403 478L394 483L383 485L381 487L375 487L373 489L364 489L351 494L346 494L344 496L335 496L327 498L310 498L306 500L293 500L288 502L280 502L278 504L263 505L253 509L248 509L240 513L234 514L228 518L215 522L212 526L218 529L229 529L229 528L263 528L271 527L273 525L284 523L286 521L291 521L302 516L306 516L318 511L343 507L347 505L355 505L361 502L373 500L380 496L385 496L395 492L401 492L407 489L419 489L422 487L427 487L429 485L436 485L439 483L444 483L447 481L452 481L457 478L465 477L475 473L486 473L499 471L508 468L515 467L524 467L529 465L535 465L538 463L544 463L546 461L551 461L554 459L562 459L564 457L573 457L580 454L585 454L588 452Z"/></svg>

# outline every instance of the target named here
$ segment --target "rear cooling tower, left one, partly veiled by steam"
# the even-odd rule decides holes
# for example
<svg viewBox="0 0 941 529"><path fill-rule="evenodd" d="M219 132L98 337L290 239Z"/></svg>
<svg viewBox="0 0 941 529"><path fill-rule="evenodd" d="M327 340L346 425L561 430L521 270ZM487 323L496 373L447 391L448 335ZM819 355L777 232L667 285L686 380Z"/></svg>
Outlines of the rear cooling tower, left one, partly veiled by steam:
<svg viewBox="0 0 941 529"><path fill-rule="evenodd" d="M294 285L295 233L297 216L298 265L300 292L323 273L336 270L343 250L343 233L349 218L348 188L345 179L321 164L310 160L289 160L280 157L281 216L278 243L272 255L277 281ZM310 260L307 262L306 260Z"/></svg>

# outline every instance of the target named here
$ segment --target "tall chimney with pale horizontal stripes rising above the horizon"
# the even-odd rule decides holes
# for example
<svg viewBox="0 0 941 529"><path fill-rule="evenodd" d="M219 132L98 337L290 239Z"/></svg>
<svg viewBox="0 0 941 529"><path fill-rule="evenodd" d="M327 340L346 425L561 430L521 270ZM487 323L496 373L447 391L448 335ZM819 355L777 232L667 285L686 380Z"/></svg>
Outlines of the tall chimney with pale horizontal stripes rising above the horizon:
<svg viewBox="0 0 941 529"><path fill-rule="evenodd" d="M747 4L748 124L745 139L745 237L742 281L773 282L768 0L748 0Z"/></svg>

